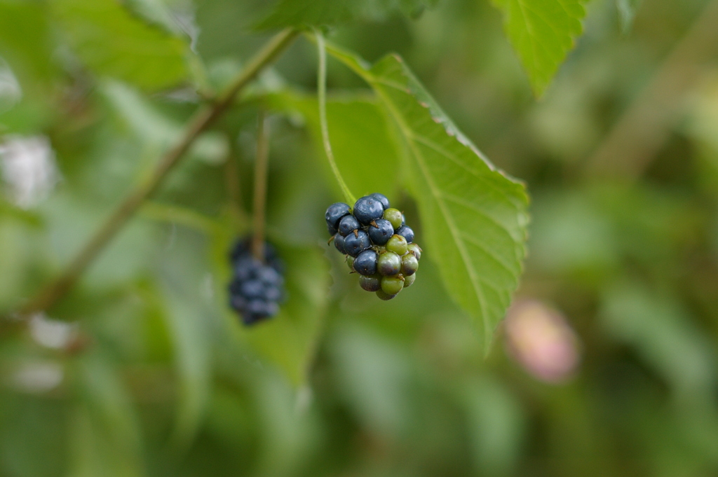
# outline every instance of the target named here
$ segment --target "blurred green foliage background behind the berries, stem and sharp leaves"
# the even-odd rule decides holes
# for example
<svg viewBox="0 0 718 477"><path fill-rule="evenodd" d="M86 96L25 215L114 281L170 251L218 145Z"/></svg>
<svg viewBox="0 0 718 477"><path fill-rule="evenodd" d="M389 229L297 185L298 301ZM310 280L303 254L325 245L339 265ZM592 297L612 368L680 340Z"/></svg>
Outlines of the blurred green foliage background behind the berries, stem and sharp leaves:
<svg viewBox="0 0 718 477"><path fill-rule="evenodd" d="M152 1L0 0L1 311L59 273L266 40L265 2L168 3L170 26ZM384 303L324 245L340 195L300 38L65 300L0 335L0 476L718 475L718 2L645 0L629 27L624 4L587 3L540 100L485 0L330 32L370 61L404 56L528 184L526 272L488 351L430 258ZM333 60L329 88L350 151L352 114L376 110ZM246 330L225 255L248 227L258 108L274 111L269 237L292 298ZM411 171L378 164L361 190L376 168L345 163L350 186L386 191L421 242L431 224L392 179Z"/></svg>

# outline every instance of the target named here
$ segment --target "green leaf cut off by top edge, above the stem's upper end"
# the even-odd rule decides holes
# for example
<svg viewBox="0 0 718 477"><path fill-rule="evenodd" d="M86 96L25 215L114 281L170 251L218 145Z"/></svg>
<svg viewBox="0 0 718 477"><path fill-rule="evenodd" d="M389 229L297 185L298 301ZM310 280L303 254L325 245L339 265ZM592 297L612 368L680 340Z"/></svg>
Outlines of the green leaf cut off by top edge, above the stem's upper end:
<svg viewBox="0 0 718 477"><path fill-rule="evenodd" d="M281 0L262 20L259 29L302 27L348 22L354 19L383 20L396 11L418 16L438 0Z"/></svg>

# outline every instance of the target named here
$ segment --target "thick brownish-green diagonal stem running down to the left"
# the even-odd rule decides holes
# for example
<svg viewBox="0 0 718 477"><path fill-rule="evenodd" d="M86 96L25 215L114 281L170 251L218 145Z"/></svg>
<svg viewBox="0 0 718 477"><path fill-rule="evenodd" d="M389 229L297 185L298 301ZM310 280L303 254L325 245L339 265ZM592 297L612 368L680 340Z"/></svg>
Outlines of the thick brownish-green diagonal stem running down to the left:
<svg viewBox="0 0 718 477"><path fill-rule="evenodd" d="M297 37L297 34L298 32L294 29L285 29L272 37L269 42L247 62L246 67L213 105L197 111L195 116L190 120L180 141L159 160L157 169L154 170L149 179L139 184L139 186L136 186L136 188L128 194L110 217L106 219L100 229L95 232L95 235L82 247L78 255L75 256L75 259L67 265L62 275L43 288L35 298L29 301L29 303L19 311L21 318L27 317L37 311L47 310L57 303L60 298L65 296L65 293L70 291L70 288L73 288L73 285L75 285L83 272L93 263L93 260L97 258L100 252L134 215L142 202L157 191L163 179L177 164L182 155L192 146L192 143L200 136L200 133L205 131L210 124L230 107L236 95L253 80L261 70L264 70L267 65L273 62L279 53L292 43Z"/></svg>

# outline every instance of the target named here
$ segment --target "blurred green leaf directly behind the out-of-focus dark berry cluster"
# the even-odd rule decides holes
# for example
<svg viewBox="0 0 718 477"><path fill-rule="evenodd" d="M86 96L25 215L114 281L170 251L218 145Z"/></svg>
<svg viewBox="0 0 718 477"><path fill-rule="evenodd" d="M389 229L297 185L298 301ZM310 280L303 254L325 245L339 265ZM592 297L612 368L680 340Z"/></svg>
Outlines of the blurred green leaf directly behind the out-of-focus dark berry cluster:
<svg viewBox="0 0 718 477"><path fill-rule="evenodd" d="M301 387L317 348L329 286L322 252L318 247L290 247L271 240L286 265L287 298L277 316L246 327L228 306L226 290L230 268L227 254L233 245L233 237L227 233L229 230L231 227L223 227L213 243L215 278L218 280L215 295L226 316L227 326L259 359L279 368L294 387Z"/></svg>

